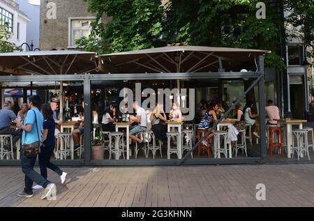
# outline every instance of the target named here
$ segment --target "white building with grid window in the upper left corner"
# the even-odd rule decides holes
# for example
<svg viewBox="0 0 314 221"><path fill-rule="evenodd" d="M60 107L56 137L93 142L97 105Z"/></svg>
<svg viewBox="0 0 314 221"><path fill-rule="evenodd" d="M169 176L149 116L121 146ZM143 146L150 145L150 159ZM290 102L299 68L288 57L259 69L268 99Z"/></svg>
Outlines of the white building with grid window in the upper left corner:
<svg viewBox="0 0 314 221"><path fill-rule="evenodd" d="M27 41L27 23L31 22L31 19L20 10L20 5L16 1L0 0L0 20L1 24L9 23L10 43L20 46Z"/></svg>

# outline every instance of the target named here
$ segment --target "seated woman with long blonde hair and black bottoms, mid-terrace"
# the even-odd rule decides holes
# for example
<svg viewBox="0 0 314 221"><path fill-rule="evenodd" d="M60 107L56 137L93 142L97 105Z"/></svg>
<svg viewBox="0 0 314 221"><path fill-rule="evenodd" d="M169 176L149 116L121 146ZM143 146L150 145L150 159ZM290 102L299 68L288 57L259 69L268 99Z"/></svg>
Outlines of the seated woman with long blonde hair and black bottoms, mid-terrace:
<svg viewBox="0 0 314 221"><path fill-rule="evenodd" d="M167 144L167 126L164 124L167 122L167 117L163 111L163 105L158 103L151 116L149 117L151 121L151 130L153 130L154 135L163 144Z"/></svg>

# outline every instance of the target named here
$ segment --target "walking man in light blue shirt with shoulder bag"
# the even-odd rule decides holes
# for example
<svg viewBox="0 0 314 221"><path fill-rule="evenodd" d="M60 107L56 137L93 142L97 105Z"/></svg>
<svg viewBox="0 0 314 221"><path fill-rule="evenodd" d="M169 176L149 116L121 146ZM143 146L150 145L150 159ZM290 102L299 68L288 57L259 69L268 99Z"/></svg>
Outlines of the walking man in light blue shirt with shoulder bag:
<svg viewBox="0 0 314 221"><path fill-rule="evenodd" d="M41 130L43 128L43 114L41 114L38 109L40 107L40 102L41 100L39 96L31 96L29 98L30 110L27 112L24 125L22 125L22 123L17 123L17 126L23 130L22 144L33 144L34 142L38 142L38 140L40 141L40 144L42 143ZM36 159L37 155L27 157L23 152L21 154L22 172L25 174L25 188L22 192L17 194L19 197L33 197L33 182L45 188L45 192L40 199L45 199L56 193L54 192L56 191L56 185L50 183L46 178L33 170Z"/></svg>

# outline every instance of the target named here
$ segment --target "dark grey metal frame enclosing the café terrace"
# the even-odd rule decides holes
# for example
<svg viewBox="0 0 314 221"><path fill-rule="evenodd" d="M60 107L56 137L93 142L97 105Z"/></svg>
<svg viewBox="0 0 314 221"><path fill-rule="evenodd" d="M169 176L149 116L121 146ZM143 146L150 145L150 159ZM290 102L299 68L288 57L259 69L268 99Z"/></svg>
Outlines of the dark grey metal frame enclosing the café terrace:
<svg viewBox="0 0 314 221"><path fill-rule="evenodd" d="M1 54L0 54L1 56ZM73 61L70 62L74 62ZM219 72L211 73L111 73L111 74L77 74L77 75L7 75L0 76L1 82L49 82L49 81L82 81L84 82L84 160L53 160L57 165L61 166L137 166L137 165L217 165L217 164L254 164L262 162L265 155L267 155L266 146L266 130L264 123L260 123L260 156L256 158L232 158L232 159L187 159L183 157L181 160L151 160L151 159L136 159L136 160L91 160L91 82L96 80L112 81L112 80L144 80L144 79L254 79L251 87L241 94L237 105L246 93L258 86L259 92L259 110L260 122L265 121L264 107L264 56L257 57L258 70L256 72L224 72L223 69ZM50 67L52 70L53 68ZM67 68L70 69L70 68ZM68 71L68 70L67 70ZM228 110L232 110L232 107ZM222 119L220 119L221 121ZM220 122L219 121L219 122ZM218 123L219 123L218 122ZM194 148L196 147L196 144ZM186 156L188 153L186 153ZM17 166L20 162L17 160L0 160L1 166Z"/></svg>

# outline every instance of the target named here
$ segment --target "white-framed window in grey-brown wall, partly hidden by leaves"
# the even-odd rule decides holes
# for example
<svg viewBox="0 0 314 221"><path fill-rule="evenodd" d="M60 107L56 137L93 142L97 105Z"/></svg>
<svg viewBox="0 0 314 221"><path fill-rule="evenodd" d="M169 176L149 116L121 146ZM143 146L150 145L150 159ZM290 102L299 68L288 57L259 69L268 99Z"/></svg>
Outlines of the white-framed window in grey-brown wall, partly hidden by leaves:
<svg viewBox="0 0 314 221"><path fill-rule="evenodd" d="M95 22L95 19L70 19L70 47L75 47L75 40L89 36L89 34L91 33L92 22Z"/></svg>

